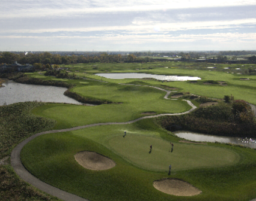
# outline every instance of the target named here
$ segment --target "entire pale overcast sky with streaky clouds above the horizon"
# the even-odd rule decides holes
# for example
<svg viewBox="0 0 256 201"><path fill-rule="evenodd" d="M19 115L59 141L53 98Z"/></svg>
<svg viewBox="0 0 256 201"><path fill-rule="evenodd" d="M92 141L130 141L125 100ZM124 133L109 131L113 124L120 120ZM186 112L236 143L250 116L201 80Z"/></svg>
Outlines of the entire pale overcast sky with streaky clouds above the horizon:
<svg viewBox="0 0 256 201"><path fill-rule="evenodd" d="M0 51L256 50L256 0L0 2Z"/></svg>

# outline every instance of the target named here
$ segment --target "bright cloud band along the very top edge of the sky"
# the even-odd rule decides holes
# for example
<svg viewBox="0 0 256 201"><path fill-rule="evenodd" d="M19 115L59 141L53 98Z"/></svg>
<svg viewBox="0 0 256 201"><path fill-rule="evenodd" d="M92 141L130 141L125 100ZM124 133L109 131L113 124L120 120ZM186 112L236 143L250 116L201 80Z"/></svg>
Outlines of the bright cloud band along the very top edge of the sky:
<svg viewBox="0 0 256 201"><path fill-rule="evenodd" d="M94 1L1 1L0 17L2 19L16 17L50 17L50 16L77 16L95 13L123 13L142 11L166 11L186 8L234 7L256 5L255 0L215 0L215 1L169 1L169 0L94 0Z"/></svg>

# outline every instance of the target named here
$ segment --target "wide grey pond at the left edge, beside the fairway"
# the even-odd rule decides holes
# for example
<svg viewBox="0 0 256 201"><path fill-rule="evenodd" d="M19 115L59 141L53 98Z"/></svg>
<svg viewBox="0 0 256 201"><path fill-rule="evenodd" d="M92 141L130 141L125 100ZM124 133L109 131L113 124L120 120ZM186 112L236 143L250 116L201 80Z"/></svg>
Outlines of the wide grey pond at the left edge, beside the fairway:
<svg viewBox="0 0 256 201"><path fill-rule="evenodd" d="M38 102L82 104L75 99L64 96L63 93L67 90L64 87L20 84L14 81L7 81L2 85L4 87L0 87L0 105L35 100Z"/></svg>

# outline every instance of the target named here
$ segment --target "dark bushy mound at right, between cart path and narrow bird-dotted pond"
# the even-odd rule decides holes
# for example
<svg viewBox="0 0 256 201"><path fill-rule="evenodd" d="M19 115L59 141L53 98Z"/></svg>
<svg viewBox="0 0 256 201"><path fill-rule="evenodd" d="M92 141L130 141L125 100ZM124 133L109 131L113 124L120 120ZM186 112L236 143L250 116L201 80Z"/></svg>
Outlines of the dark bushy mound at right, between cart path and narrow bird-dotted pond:
<svg viewBox="0 0 256 201"><path fill-rule="evenodd" d="M171 131L179 128L210 135L255 137L256 123L252 113L242 112L237 120L233 111L232 104L219 104L198 108L186 115L159 117L157 121Z"/></svg>

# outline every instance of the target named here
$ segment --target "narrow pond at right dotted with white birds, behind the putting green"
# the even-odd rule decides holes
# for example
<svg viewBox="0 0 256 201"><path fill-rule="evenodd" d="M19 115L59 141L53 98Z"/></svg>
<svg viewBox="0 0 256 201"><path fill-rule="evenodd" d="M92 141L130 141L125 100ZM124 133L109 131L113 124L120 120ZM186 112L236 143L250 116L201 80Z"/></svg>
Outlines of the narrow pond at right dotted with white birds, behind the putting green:
<svg viewBox="0 0 256 201"><path fill-rule="evenodd" d="M237 145L243 145L245 147L256 148L256 139L253 138L237 138L237 137L225 137L216 135L204 135L194 132L178 131L174 132L179 138L188 139L197 142L221 142L231 143Z"/></svg>

